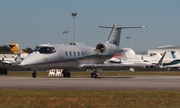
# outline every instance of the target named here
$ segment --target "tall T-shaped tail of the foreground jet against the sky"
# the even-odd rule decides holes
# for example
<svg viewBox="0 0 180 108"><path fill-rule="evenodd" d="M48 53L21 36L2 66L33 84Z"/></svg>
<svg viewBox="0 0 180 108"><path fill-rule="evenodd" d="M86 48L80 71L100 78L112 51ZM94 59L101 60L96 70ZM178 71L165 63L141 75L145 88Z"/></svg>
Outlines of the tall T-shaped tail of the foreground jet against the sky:
<svg viewBox="0 0 180 108"><path fill-rule="evenodd" d="M106 43L112 43L117 46L120 44L121 29L125 28L146 28L147 26L120 26L117 23L114 26L99 26L100 28L112 28Z"/></svg>

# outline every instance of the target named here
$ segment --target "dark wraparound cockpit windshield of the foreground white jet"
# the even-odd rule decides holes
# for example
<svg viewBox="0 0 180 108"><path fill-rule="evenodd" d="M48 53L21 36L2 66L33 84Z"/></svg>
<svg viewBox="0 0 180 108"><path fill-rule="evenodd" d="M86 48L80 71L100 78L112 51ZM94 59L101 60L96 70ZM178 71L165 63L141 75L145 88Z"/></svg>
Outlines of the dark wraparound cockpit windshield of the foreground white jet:
<svg viewBox="0 0 180 108"><path fill-rule="evenodd" d="M34 51L37 51L40 53L46 53L46 54L56 52L54 47L49 47L49 46L36 46Z"/></svg>

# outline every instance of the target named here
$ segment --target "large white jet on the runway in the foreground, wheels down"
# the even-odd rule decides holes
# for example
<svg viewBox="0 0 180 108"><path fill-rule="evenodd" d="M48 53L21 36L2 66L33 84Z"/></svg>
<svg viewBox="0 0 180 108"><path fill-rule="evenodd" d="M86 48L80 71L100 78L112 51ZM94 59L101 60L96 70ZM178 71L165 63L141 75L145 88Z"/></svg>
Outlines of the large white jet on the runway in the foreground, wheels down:
<svg viewBox="0 0 180 108"><path fill-rule="evenodd" d="M102 66L103 61L110 59L119 49L121 29L125 28L145 28L132 26L99 26L101 28L111 28L112 31L108 40L104 43L98 43L95 47L87 46L82 43L73 42L70 45L51 45L41 44L35 48L35 51L29 54L22 62L21 66L31 68L33 78L36 77L38 69L63 69L63 76L70 77L68 69L85 68L92 69L91 77L97 78L98 68Z"/></svg>

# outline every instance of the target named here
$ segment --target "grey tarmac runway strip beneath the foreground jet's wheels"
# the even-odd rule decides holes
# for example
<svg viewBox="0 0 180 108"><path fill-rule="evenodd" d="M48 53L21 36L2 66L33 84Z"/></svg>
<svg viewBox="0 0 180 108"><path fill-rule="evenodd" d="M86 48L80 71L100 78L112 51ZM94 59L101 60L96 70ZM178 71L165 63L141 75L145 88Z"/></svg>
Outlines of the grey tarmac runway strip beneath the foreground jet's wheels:
<svg viewBox="0 0 180 108"><path fill-rule="evenodd" d="M180 76L48 78L0 76L0 89L30 90L180 90Z"/></svg>

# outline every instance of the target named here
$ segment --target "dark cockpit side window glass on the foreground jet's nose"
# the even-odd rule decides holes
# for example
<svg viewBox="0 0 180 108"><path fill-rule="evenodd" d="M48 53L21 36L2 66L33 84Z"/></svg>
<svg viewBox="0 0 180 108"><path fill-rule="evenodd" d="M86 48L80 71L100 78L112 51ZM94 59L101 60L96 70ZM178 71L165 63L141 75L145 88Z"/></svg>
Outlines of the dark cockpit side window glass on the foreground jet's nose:
<svg viewBox="0 0 180 108"><path fill-rule="evenodd" d="M56 52L54 47L40 47L39 49L37 49L37 51L40 53L46 53L46 54Z"/></svg>

